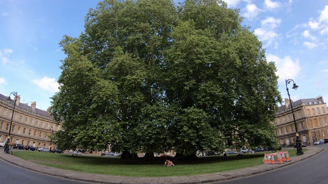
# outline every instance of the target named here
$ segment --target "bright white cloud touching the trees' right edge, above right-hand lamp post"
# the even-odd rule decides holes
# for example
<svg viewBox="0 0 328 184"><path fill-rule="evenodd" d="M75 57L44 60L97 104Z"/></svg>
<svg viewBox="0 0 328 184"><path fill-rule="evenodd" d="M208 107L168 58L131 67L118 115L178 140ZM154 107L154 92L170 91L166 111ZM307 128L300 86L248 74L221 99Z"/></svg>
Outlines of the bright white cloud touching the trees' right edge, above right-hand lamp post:
<svg viewBox="0 0 328 184"><path fill-rule="evenodd" d="M268 54L267 61L275 62L277 67L276 75L279 76L279 81L284 81L285 79L295 79L301 71L299 60L296 59L293 61L290 56L279 58L276 55ZM293 68L293 70L291 70L291 68Z"/></svg>

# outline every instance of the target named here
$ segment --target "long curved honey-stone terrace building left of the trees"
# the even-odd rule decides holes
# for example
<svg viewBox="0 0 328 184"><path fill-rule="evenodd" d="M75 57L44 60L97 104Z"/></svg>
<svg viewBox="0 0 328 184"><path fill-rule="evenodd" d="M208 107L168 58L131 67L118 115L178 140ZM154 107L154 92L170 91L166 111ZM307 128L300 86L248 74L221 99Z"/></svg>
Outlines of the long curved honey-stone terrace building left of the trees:
<svg viewBox="0 0 328 184"><path fill-rule="evenodd" d="M37 109L36 102L32 102L31 106L20 103L20 95L8 99L7 96L0 94L0 141L6 142L8 139L14 99L16 106L11 125L11 141L24 146L50 148L50 136L60 130L61 125L54 123L48 111Z"/></svg>

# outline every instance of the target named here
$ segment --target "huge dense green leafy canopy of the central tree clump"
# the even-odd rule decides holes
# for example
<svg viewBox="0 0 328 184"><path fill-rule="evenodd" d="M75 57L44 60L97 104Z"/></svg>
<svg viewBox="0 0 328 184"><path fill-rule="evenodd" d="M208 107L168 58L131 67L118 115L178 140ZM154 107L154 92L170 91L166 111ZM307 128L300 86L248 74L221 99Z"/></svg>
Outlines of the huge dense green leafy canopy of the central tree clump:
<svg viewBox="0 0 328 184"><path fill-rule="evenodd" d="M241 22L216 0L99 2L60 42L58 145L126 156L277 146L276 67Z"/></svg>

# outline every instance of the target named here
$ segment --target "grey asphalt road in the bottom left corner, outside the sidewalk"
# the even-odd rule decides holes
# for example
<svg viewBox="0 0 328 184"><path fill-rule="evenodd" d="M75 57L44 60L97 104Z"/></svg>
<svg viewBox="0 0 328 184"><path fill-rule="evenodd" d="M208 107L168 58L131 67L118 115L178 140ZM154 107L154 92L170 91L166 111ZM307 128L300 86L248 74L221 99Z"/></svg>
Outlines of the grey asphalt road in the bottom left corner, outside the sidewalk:
<svg viewBox="0 0 328 184"><path fill-rule="evenodd" d="M0 151L4 151L4 148L1 148ZM74 181L65 178L59 178L54 176L49 176L30 170L26 170L10 163L5 162L0 159L0 183L6 184L35 184L35 183L47 183L47 184L58 184L58 183L67 183L67 184L77 184L77 183L88 183L81 181Z"/></svg>

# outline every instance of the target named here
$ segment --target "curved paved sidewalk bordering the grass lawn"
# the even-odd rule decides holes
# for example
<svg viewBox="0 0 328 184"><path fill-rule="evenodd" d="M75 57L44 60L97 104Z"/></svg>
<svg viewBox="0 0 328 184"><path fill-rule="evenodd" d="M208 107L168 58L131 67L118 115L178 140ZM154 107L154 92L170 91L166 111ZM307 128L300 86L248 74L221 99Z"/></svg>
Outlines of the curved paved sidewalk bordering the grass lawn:
<svg viewBox="0 0 328 184"><path fill-rule="evenodd" d="M81 173L76 171L69 171L63 169L51 168L39 164L29 162L24 159L20 159L15 155L5 154L3 149L0 150L0 158L6 160L9 163L20 166L22 168L30 169L36 172L45 173L48 175L65 177L75 180L89 181L89 182L101 182L101 183L206 183L222 180L230 180L241 178L244 176L251 176L259 174L281 167L285 167L291 164L301 162L304 159L310 158L325 150L324 147L309 146L306 147L309 151L304 152L303 155L291 157L291 162L283 164L263 164L252 168L244 168L233 171L218 172L211 174L199 174L193 176L171 176L171 177L131 177L131 176L110 176L101 174ZM276 163L278 163L276 161Z"/></svg>

